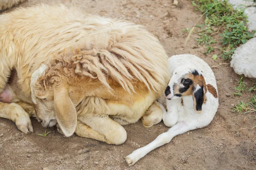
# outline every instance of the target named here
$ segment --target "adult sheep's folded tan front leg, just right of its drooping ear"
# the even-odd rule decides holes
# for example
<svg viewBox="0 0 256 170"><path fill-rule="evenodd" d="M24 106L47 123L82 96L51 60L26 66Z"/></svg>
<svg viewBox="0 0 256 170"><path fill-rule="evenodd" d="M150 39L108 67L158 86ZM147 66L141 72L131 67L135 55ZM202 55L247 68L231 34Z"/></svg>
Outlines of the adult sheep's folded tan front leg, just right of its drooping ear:
<svg viewBox="0 0 256 170"><path fill-rule="evenodd" d="M76 134L78 134L79 136L81 135L82 137L84 136L92 139L97 138L96 140L116 145L122 144L126 141L127 134L124 127L119 125L119 123L113 121L108 115L85 113L83 116L79 116L78 120L89 126L93 130L89 131L92 133L87 133L86 135L83 135L83 132L77 133L78 131L76 130ZM98 133L96 133L95 131ZM93 137L95 135L96 138Z"/></svg>

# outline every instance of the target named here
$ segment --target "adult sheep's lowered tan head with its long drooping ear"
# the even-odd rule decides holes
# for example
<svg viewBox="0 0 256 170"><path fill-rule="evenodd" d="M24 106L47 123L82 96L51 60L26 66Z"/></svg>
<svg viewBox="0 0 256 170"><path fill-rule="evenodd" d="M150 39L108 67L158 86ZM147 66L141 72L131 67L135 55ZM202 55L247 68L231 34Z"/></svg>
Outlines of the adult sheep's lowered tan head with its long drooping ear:
<svg viewBox="0 0 256 170"><path fill-rule="evenodd" d="M68 93L69 88L63 84L46 85L45 71L49 69L42 65L31 77L31 97L36 117L44 127L58 123L61 133L71 136L76 130L77 115Z"/></svg>

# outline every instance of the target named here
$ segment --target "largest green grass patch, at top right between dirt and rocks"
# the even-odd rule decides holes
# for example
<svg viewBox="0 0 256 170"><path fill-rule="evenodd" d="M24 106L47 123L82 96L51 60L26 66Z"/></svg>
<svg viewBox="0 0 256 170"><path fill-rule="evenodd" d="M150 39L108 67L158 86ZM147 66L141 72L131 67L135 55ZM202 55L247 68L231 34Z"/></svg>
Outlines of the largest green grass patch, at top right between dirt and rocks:
<svg viewBox="0 0 256 170"><path fill-rule="evenodd" d="M227 0L194 0L192 5L205 15L204 24L196 25L199 28L198 44L207 45L205 53L210 54L215 47L213 46L218 35L222 46L220 56L224 59L231 59L235 49L250 40L255 32L249 32L245 26L247 16L244 9L233 9ZM191 29L193 31L193 29ZM221 33L221 34L220 34Z"/></svg>

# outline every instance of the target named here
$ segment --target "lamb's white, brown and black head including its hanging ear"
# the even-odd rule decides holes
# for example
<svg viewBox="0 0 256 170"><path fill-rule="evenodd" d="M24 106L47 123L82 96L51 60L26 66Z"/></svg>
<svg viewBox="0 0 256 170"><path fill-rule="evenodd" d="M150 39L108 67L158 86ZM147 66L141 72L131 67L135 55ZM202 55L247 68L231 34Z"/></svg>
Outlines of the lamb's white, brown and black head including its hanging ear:
<svg viewBox="0 0 256 170"><path fill-rule="evenodd" d="M165 96L169 100L193 96L195 111L201 113L202 105L206 101L205 90L207 88L201 71L183 65L172 72Z"/></svg>

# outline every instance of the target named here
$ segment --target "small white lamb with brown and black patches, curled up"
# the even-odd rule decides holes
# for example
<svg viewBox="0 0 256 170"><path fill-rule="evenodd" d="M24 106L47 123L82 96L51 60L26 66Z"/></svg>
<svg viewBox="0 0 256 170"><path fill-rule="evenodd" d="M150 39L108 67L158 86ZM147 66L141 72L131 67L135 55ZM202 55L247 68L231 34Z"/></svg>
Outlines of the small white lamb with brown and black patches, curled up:
<svg viewBox="0 0 256 170"><path fill-rule="evenodd" d="M129 166L151 150L169 143L173 137L209 125L217 112L216 79L204 60L191 54L172 56L169 58L169 73L172 77L165 90L167 112L164 102L161 108L163 122L171 128L150 144L126 156Z"/></svg>

